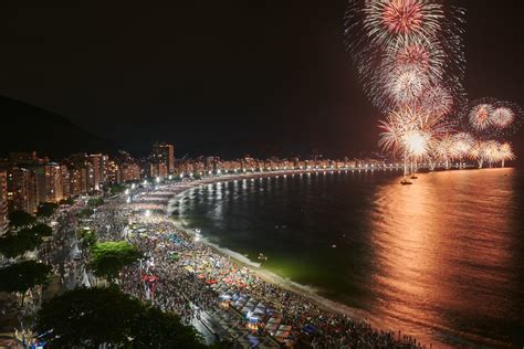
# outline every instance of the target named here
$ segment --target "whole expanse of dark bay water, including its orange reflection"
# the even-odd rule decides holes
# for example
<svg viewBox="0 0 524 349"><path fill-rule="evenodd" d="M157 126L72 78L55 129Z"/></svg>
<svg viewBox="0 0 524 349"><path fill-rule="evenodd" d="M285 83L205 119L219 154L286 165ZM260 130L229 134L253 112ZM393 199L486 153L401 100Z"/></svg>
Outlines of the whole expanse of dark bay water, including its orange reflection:
<svg viewBox="0 0 524 349"><path fill-rule="evenodd" d="M174 218L428 347L520 342L523 173L399 180L397 171L343 171L219 182L182 193Z"/></svg>

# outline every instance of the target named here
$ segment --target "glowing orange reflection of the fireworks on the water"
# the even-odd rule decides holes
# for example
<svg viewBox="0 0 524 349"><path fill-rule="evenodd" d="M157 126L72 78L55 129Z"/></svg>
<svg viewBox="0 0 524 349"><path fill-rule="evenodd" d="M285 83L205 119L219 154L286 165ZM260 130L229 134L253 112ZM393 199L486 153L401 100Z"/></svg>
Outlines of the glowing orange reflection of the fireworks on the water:
<svg viewBox="0 0 524 349"><path fill-rule="evenodd" d="M515 179L512 169L493 169L381 187L371 215L374 316L388 327L420 327L428 339L439 330L474 338L522 316Z"/></svg>

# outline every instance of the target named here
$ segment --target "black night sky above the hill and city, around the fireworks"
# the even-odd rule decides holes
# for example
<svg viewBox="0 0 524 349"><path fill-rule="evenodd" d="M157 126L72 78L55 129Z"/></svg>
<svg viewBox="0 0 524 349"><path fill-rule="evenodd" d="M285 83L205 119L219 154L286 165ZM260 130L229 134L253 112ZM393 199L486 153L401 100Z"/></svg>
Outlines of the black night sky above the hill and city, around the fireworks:
<svg viewBox="0 0 524 349"><path fill-rule="evenodd" d="M343 43L345 0L22 2L1 4L0 94L127 149L157 139L177 157L377 149L380 114ZM524 106L522 0L458 3L470 97Z"/></svg>

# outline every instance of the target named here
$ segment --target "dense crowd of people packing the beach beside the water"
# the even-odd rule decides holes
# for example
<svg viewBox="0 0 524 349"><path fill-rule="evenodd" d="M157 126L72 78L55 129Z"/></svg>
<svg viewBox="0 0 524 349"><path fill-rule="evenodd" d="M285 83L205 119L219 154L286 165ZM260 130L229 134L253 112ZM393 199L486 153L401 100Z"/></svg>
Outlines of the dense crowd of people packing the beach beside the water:
<svg viewBox="0 0 524 349"><path fill-rule="evenodd" d="M237 326L291 346L422 347L409 336L376 330L366 321L325 310L304 295L265 282L177 228L167 215L167 203L186 188L187 183L169 184L143 189L133 202L125 198L109 200L90 220L90 226L102 239L125 237L146 255L138 267L122 273L119 282L125 292L175 311L186 324L202 311L235 311L241 319Z"/></svg>

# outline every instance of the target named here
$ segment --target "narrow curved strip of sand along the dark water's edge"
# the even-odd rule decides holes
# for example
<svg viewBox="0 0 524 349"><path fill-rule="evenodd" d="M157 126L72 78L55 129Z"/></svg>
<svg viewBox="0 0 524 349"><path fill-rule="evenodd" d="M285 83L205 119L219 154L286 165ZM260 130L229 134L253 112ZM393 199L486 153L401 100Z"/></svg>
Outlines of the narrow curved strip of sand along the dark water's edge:
<svg viewBox="0 0 524 349"><path fill-rule="evenodd" d="M268 172L268 173L248 173L248 174L239 174L239 176L231 176L231 177L217 177L217 178L211 178L202 181L193 181L193 182L188 182L187 186L184 186L179 191L176 191L174 193L174 197L168 201L167 207L166 207L166 215L167 218L174 222L174 224L182 231L185 234L189 236L195 236L195 233L192 233L190 230L188 230L187 226L184 225L184 222L180 222L178 220L175 220L172 215L174 211L174 203L177 202L178 200L181 199L184 193L190 189L199 188L202 186L207 184L212 184L212 183L219 183L219 182L232 182L237 180L254 180L259 178L279 178L282 176L301 176L301 174L312 174L312 173L343 173L343 172L355 172L355 171L398 171L400 170L399 168L388 168L388 169L313 169L313 170L289 170L289 171L275 171L275 172ZM276 285L287 292L292 292L294 294L297 294L302 297L307 298L308 300L313 302L316 306L318 306L321 309L325 311L331 311L335 314L342 314L349 316L353 319L356 320L364 320L368 324L370 324L374 328L379 329L379 330L386 330L386 331L394 331L396 329L386 329L380 327L375 320L369 318L367 316L367 313L364 310L359 310L353 307L349 307L343 303L335 302L332 299L328 299L324 296L321 296L318 294L318 289L308 286L308 285L303 285L296 282L293 282L289 278L282 277L275 273L272 273L261 266L260 263L253 262L249 260L248 257L243 256L242 254L222 247L218 244L211 243L207 239L202 239L201 243L206 244L210 248L212 248L216 253L231 257L234 260L235 263L241 264L242 266L248 267L253 274L259 276L261 279L264 282L268 282L270 284ZM398 330L398 329L397 329ZM407 334L409 335L409 334Z"/></svg>

